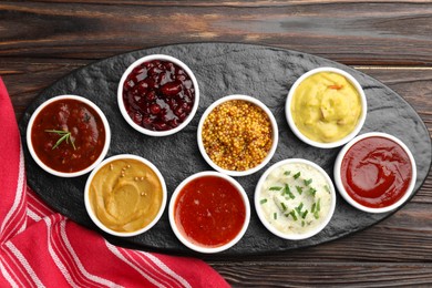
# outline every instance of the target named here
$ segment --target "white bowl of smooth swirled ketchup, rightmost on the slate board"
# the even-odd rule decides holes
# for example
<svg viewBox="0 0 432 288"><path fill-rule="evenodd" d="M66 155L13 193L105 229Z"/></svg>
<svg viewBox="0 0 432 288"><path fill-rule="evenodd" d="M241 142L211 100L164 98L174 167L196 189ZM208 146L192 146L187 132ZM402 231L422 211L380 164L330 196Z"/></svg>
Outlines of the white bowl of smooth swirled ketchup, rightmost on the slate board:
<svg viewBox="0 0 432 288"><path fill-rule="evenodd" d="M414 189L415 161L399 138L380 132L357 136L338 154L335 182L341 196L368 213L401 206Z"/></svg>

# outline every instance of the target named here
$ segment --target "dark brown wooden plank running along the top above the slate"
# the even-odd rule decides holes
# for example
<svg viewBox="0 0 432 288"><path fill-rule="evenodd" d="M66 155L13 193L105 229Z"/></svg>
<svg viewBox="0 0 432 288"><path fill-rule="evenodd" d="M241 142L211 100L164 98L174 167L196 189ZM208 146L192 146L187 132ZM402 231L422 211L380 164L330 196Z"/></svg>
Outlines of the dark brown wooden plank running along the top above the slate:
<svg viewBox="0 0 432 288"><path fill-rule="evenodd" d="M347 64L431 65L428 1L65 1L0 4L0 56L101 59L155 45L228 41ZM175 7L175 12L173 12Z"/></svg>

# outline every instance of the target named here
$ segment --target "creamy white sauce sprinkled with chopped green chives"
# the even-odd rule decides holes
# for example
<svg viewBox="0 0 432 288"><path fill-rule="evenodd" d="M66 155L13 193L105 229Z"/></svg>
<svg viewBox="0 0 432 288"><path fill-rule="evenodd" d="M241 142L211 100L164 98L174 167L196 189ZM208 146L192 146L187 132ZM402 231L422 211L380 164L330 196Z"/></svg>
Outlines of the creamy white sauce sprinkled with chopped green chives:
<svg viewBox="0 0 432 288"><path fill-rule="evenodd" d="M285 235L301 235L320 226L331 209L330 185L315 167L290 163L265 179L259 207L267 222Z"/></svg>

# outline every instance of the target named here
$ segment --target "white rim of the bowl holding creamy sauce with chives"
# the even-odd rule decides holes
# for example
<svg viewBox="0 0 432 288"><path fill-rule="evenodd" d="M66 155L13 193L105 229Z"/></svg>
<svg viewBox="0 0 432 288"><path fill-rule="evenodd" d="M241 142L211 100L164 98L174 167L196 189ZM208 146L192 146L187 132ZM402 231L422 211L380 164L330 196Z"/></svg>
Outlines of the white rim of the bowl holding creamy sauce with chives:
<svg viewBox="0 0 432 288"><path fill-rule="evenodd" d="M287 165L287 164L297 164L297 163L313 167L326 178L327 184L329 185L329 188L330 188L331 206L330 206L330 210L327 215L327 218L321 223L321 225L317 226L315 229L312 229L308 233L305 233L305 234L284 234L284 233L279 232L278 229L276 229L269 222L267 222L267 219L263 213L263 209L260 208L261 207L261 204L260 204L261 187L263 187L264 182L267 179L268 175L275 168L278 168L278 167L280 167L282 165ZM336 202L337 202L336 189L335 189L335 186L333 186L333 183L332 183L330 176L327 174L327 172L321 166L319 166L318 164L316 164L309 160L305 160L305 158L286 158L286 160L279 161L279 162L275 163L274 165L271 165L269 168L267 168L267 171L259 178L259 181L255 187L255 195L254 195L255 209L256 209L258 218L263 223L263 225L274 235L276 235L280 238L284 238L284 239L288 239L288 240L307 239L307 238L310 238L310 237L317 235L322 229L325 229L327 227L327 225L330 223L330 220L335 214Z"/></svg>

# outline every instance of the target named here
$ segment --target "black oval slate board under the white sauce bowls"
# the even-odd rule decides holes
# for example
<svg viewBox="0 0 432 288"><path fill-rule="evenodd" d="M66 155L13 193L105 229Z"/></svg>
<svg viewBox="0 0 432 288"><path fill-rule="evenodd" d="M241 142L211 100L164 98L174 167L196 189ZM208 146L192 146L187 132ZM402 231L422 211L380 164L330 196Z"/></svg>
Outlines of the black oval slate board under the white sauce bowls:
<svg viewBox="0 0 432 288"><path fill-rule="evenodd" d="M200 101L194 120L182 132L167 137L150 137L134 131L124 121L116 102L117 83L123 71L136 59L154 53L169 54L184 61L195 73ZM319 150L300 142L286 123L284 105L288 90L302 73L318 66L336 66L351 73L363 86L368 99L368 116L360 133L380 131L401 138L412 151L418 165L415 191L424 182L431 166L431 141L428 130L415 111L397 93L379 81L339 63L306 53L276 48L199 43L167 45L130 52L84 66L52 84L29 106L20 122L22 138L28 121L43 101L60 94L78 94L90 99L106 114L112 128L107 156L131 153L153 162L164 175L168 199L175 187L187 176L208 171L198 152L196 130L205 109L228 94L246 94L261 100L275 114L279 125L279 144L272 161L258 173L238 177L249 195L251 219L244 238L223 254L245 255L288 250L318 245L369 227L390 214L372 215L359 212L339 195L330 224L320 234L301 241L280 239L259 222L254 207L254 191L264 171L275 162L301 157L321 165L332 177L333 162L339 148ZM42 171L24 145L29 185L54 209L79 224L99 230L89 218L83 199L88 175L59 178ZM99 230L100 232L100 230ZM102 233L102 232L100 232ZM171 229L167 208L162 219L150 232L111 241L127 247L193 254L184 247Z"/></svg>

